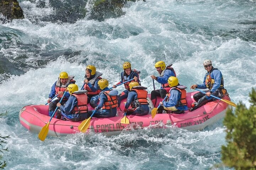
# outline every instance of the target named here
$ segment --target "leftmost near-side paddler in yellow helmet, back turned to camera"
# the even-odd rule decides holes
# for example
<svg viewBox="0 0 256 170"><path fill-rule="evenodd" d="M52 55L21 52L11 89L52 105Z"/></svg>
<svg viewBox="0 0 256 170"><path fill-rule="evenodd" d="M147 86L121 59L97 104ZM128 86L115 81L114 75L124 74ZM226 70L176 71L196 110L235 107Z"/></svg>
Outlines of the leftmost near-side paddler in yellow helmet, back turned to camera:
<svg viewBox="0 0 256 170"><path fill-rule="evenodd" d="M60 108L61 114L69 121L81 121L89 118L87 104L86 90L79 90L76 84L70 84L66 88L70 97L65 106L57 103Z"/></svg>

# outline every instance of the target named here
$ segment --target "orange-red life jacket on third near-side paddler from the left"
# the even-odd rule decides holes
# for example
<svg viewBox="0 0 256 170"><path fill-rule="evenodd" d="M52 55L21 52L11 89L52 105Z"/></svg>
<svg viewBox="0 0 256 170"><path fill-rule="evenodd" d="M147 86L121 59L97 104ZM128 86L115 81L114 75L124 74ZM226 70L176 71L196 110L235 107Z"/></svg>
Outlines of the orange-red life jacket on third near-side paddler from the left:
<svg viewBox="0 0 256 170"><path fill-rule="evenodd" d="M138 87L138 88L137 88ZM137 98L133 100L132 107L139 107L140 104L149 104L148 103L148 91L139 89L140 86L135 86L131 91L135 91L137 93Z"/></svg>

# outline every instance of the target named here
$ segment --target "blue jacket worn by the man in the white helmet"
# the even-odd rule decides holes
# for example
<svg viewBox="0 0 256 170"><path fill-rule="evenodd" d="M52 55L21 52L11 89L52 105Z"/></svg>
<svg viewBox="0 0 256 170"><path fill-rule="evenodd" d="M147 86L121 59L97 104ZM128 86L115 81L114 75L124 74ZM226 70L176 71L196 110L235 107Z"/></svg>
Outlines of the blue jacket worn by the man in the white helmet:
<svg viewBox="0 0 256 170"><path fill-rule="evenodd" d="M206 75L204 76L203 83L202 84L197 84L198 89L207 89L206 84L205 84L207 75L209 75L209 72L207 72ZM220 87L221 80L222 80L222 73L220 72L220 70L215 69L210 73L210 77L212 79L214 79L213 87L210 90L210 92L213 93L214 91L216 91Z"/></svg>

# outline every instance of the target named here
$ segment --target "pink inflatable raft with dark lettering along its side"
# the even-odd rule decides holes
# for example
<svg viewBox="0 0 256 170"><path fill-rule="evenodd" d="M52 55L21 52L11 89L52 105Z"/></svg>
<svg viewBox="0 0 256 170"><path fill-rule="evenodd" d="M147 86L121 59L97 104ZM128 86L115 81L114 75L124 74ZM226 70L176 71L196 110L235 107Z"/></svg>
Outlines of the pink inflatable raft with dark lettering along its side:
<svg viewBox="0 0 256 170"><path fill-rule="evenodd" d="M191 106L194 102L193 94L196 92L187 93L187 103ZM158 107L153 106L148 95L149 106L151 109ZM224 96L222 99L229 100L228 96ZM158 98L157 103L161 101ZM125 102L125 101L124 101ZM120 134L122 130L139 129L149 127L151 125L162 124L162 125L175 125L178 128L184 128L188 130L202 130L206 126L211 125L222 119L225 116L226 110L229 105L223 101L216 100L209 102L204 106L196 109L195 111L184 114L156 114L154 119L151 118L151 114L144 116L128 115L127 118L130 124L121 124L123 118L123 102L121 104L121 110L118 109L118 116L112 118L92 118L90 126L87 131L94 131L96 133L105 133L107 135ZM92 109L88 107L88 109ZM48 116L48 105L29 105L21 109L19 113L21 124L34 133L39 133L44 125L49 122L50 117ZM161 123L160 123L161 122ZM53 118L49 124L49 131L47 136L66 136L68 134L74 134L80 132L78 126L80 122L63 121ZM166 128L168 126L156 126L157 128ZM154 127L154 126L151 126Z"/></svg>

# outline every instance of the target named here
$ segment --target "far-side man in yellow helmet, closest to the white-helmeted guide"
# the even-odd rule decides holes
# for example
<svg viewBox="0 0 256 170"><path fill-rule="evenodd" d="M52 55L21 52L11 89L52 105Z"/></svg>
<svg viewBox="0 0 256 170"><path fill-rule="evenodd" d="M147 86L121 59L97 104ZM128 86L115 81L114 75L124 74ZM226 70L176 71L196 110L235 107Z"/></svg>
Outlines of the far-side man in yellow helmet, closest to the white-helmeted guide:
<svg viewBox="0 0 256 170"><path fill-rule="evenodd" d="M153 102L155 107L157 104L156 97L161 96L161 98L164 99L165 95L167 94L167 91L169 91L171 89L171 87L168 84L168 78L171 76L176 77L176 73L171 66L172 66L172 64L165 67L165 62L163 62L163 61L159 61L159 62L155 63L155 68L158 71L158 73L160 74L160 76L156 77L155 75L151 75L151 78L161 84L161 89L151 91L150 99ZM159 113L161 113L161 109L159 110Z"/></svg>

